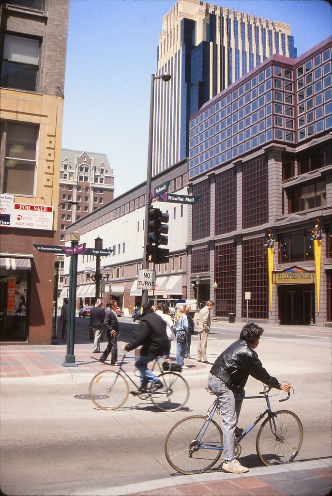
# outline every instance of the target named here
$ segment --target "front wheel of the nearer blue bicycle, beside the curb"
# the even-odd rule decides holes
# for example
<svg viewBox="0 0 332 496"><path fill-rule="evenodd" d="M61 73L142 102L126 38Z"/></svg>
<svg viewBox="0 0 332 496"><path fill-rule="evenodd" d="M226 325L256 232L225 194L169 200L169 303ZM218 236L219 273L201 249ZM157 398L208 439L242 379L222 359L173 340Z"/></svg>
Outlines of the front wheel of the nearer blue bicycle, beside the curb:
<svg viewBox="0 0 332 496"><path fill-rule="evenodd" d="M276 431L274 427L276 423ZM256 451L265 465L279 465L294 460L303 441L303 427L293 412L279 410L273 419L265 419L256 438Z"/></svg>

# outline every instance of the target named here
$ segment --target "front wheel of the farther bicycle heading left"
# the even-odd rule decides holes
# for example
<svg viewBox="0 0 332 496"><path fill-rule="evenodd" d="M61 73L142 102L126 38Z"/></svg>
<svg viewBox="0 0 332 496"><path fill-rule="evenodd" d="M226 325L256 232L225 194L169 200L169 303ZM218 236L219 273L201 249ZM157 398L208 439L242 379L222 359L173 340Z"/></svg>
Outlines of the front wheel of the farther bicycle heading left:
<svg viewBox="0 0 332 496"><path fill-rule="evenodd" d="M116 410L128 398L126 379L115 371L102 371L94 376L89 386L90 398L103 410Z"/></svg>

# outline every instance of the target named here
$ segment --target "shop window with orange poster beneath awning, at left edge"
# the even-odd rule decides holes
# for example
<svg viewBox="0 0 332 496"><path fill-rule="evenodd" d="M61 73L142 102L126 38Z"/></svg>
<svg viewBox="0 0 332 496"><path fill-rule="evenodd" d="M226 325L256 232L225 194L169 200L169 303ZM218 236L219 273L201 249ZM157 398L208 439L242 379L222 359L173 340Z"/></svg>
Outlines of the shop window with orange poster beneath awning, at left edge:
<svg viewBox="0 0 332 496"><path fill-rule="evenodd" d="M26 341L29 331L31 259L0 258L0 340Z"/></svg>

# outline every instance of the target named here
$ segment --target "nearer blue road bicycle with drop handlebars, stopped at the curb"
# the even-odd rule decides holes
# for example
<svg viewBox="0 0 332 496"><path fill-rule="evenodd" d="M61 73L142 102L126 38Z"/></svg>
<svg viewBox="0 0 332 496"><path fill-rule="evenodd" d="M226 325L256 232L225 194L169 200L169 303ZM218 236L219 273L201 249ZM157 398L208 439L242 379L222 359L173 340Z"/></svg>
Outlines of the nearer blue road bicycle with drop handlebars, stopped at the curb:
<svg viewBox="0 0 332 496"><path fill-rule="evenodd" d="M206 388L210 394L214 392ZM256 437L256 451L265 465L291 462L299 452L303 441L303 426L298 416L289 410L271 410L269 391L264 385L263 396L245 396L242 399L265 399L267 408L248 429L235 439L235 457L241 454L240 441L266 416ZM286 398L279 400L286 401ZM165 455L172 468L182 474L202 473L213 467L221 457L223 444L219 424L213 419L220 413L218 398L207 414L193 415L177 422L165 441Z"/></svg>

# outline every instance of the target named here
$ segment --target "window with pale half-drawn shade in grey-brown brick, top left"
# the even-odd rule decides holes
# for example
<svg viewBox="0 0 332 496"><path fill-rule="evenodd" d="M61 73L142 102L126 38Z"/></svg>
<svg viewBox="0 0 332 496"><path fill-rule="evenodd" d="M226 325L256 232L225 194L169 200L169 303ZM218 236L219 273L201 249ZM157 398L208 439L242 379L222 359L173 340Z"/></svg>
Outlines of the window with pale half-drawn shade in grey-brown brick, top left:
<svg viewBox="0 0 332 496"><path fill-rule="evenodd" d="M4 35L0 84L4 88L36 91L39 40Z"/></svg>

